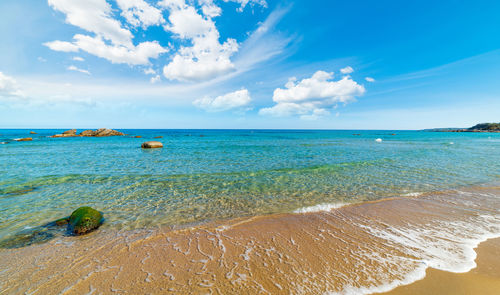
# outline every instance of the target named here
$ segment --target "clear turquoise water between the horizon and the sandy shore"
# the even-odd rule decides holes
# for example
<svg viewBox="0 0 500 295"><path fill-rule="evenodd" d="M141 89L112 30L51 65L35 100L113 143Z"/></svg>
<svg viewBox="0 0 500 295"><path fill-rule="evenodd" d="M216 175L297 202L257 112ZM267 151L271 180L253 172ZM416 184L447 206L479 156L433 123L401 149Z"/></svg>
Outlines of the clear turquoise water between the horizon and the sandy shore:
<svg viewBox="0 0 500 295"><path fill-rule="evenodd" d="M500 179L499 133L29 131L0 130L0 142L9 142L0 144L0 239L82 205L105 214L103 227L186 226ZM163 149L140 148L155 136Z"/></svg>

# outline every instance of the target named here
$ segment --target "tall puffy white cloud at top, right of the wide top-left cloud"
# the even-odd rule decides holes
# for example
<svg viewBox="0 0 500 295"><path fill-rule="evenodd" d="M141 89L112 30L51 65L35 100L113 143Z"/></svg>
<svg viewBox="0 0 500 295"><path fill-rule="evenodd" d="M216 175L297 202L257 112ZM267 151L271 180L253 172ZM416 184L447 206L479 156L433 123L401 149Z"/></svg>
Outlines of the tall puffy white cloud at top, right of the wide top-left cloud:
<svg viewBox="0 0 500 295"><path fill-rule="evenodd" d="M202 81L210 80L232 71L234 64L231 56L238 51L238 43L234 39L219 42L219 31L215 27L213 12L201 15L194 6L183 0L163 0L160 5L169 10L168 24L165 30L174 33L192 46L181 47L171 62L163 68L163 75L170 80ZM203 1L203 7L214 5L211 1Z"/></svg>

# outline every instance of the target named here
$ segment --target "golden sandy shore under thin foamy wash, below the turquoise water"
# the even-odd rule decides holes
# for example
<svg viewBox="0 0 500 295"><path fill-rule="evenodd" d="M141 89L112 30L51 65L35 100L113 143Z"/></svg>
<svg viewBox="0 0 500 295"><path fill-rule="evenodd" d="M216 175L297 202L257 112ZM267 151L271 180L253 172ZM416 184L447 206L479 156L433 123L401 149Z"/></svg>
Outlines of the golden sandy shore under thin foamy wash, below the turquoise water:
<svg viewBox="0 0 500 295"><path fill-rule="evenodd" d="M485 234L500 233L498 196L499 188L475 188L177 231L102 229L42 245L0 249L0 290L2 294L387 291L420 279L428 266L472 268L470 245ZM498 278L498 272L488 276L487 268L483 272L488 275L474 276L474 271L464 277L488 284ZM433 280L441 281L439 276L452 284L460 275L428 270L427 279L408 288L432 285ZM415 289L420 290L417 293L397 291L427 294L422 290L431 290L431 285Z"/></svg>

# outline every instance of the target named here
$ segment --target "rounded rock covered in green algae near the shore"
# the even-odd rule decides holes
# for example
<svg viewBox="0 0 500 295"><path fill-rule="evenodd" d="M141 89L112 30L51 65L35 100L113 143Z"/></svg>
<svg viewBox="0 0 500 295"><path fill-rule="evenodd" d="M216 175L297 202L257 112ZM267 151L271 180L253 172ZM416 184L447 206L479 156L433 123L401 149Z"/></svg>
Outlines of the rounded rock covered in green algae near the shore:
<svg viewBox="0 0 500 295"><path fill-rule="evenodd" d="M75 235L86 234L98 228L102 221L101 212L90 207L80 207L71 213L68 231Z"/></svg>

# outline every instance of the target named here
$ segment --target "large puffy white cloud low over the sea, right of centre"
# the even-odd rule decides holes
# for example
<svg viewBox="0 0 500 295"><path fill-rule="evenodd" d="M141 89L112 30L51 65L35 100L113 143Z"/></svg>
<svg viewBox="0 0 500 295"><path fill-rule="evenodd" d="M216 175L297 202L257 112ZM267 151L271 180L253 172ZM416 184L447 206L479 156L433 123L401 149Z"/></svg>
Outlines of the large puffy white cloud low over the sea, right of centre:
<svg viewBox="0 0 500 295"><path fill-rule="evenodd" d="M259 111L261 115L292 116L299 115L302 119L317 119L330 114L329 109L339 103L349 103L357 96L365 93L365 88L353 81L349 76L332 81L333 73L317 71L311 78L297 82L290 78L285 89L274 90L270 108Z"/></svg>

